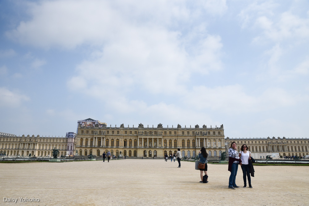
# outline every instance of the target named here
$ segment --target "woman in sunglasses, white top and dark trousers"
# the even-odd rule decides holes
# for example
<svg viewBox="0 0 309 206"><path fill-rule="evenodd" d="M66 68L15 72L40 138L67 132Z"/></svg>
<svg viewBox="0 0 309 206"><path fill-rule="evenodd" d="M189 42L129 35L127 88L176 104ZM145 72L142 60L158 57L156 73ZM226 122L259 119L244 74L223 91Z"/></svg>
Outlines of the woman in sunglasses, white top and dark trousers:
<svg viewBox="0 0 309 206"><path fill-rule="evenodd" d="M252 188L251 185L251 177L250 177L250 166L249 161L251 160L251 152L248 151L247 145L241 146L241 151L239 152L239 157L241 159L242 165L241 169L243 170L243 187L247 187L246 176L248 177L249 187Z"/></svg>

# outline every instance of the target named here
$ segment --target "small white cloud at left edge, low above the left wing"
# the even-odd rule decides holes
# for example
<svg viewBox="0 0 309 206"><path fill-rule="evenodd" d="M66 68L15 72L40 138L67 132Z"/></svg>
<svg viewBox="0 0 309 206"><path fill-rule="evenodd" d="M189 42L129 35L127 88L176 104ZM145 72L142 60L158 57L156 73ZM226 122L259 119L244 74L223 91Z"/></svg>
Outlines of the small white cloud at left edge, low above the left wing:
<svg viewBox="0 0 309 206"><path fill-rule="evenodd" d="M19 107L23 102L29 100L30 98L26 95L0 87L0 106L2 107Z"/></svg>

